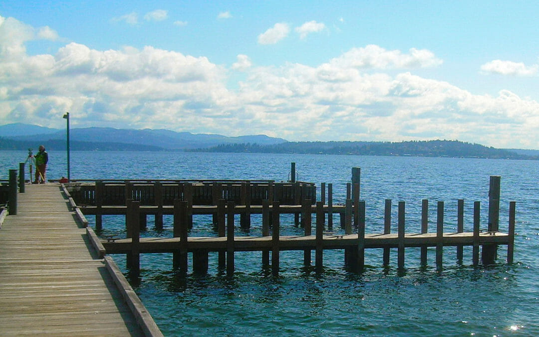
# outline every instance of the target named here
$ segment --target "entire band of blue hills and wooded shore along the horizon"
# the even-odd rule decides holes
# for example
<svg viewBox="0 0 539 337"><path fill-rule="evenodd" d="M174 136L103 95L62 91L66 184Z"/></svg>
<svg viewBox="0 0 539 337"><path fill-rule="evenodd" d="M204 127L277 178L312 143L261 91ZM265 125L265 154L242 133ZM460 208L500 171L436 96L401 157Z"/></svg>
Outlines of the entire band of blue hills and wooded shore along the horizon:
<svg viewBox="0 0 539 337"><path fill-rule="evenodd" d="M13 123L0 126L0 150L66 149L66 130ZM266 135L226 137L165 129L70 129L70 148L86 151L164 151L351 154L383 156L475 157L539 160L539 150L496 149L457 140L403 142L288 142Z"/></svg>

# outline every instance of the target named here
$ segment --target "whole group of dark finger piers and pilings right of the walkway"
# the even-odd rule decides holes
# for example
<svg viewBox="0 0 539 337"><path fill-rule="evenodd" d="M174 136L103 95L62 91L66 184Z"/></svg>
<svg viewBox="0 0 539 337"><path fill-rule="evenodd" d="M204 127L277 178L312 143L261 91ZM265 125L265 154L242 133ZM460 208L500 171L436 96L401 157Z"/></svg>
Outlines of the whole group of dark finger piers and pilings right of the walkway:
<svg viewBox="0 0 539 337"><path fill-rule="evenodd" d="M361 271L364 267L364 250L383 249L383 264L390 262L390 250L397 250L397 266L405 265L405 249L420 247L420 263L426 265L427 248L436 247L436 265L443 266L445 246L457 249L457 259L462 260L464 246L472 246L472 263L494 263L497 257L497 246L507 245L507 262L513 262L515 202L509 205L507 232L499 230L499 198L500 177L490 177L488 225L481 229L479 202L474 202L473 219L468 221L465 231L464 200L458 202L458 225L456 232L444 232L444 202L436 204L436 228L429 231L429 201L422 201L421 231L405 231L405 203L398 202L398 231L391 233L391 200L385 201L384 230L381 233L365 233L365 201L360 196L360 169L353 168L352 183L347 185L347 200L344 205L333 205L330 193L328 204L324 203L325 191L321 192L322 200L312 191L312 183L282 183L284 194L274 194L275 182L112 182L98 181L92 190L91 185L71 188L72 203L86 196L89 204L82 205L80 210L87 215L102 214L126 216L127 237L102 240L102 245L109 254L127 254L130 270L138 274L141 253L173 253L173 266L187 272L188 253L192 253L193 270L205 273L208 271L209 252L218 252L219 267L226 267L227 273L234 271L234 253L239 251L261 251L262 266L271 266L273 273L279 272L279 253L286 250L303 250L303 262L310 265L314 253L315 267L322 270L323 251L338 249L344 251L344 263L353 271ZM165 185L169 185L168 192ZM108 187L107 187L108 185ZM331 191L331 184L328 184ZM236 192L234 191L236 188ZM108 189L108 190L107 190ZM198 192L194 193L198 189ZM114 192L114 190L116 192ZM252 193L251 191L258 191ZM321 190L325 190L322 185ZM175 192L171 192L175 191ZM309 192L306 192L309 191ZM115 198L111 198L115 195ZM168 198L163 198L168 195ZM92 196L92 197L88 197ZM269 200L268 197L272 197ZM127 198L123 200L122 198ZM167 202L163 200L167 199ZM285 204L279 201L284 200ZM105 204L103 200L108 200ZM202 202L201 200L205 200ZM112 205L111 205L112 203ZM166 203L166 205L164 205ZM239 203L239 204L238 204ZM341 227L344 233L333 230L333 214L340 214ZM146 227L147 215L156 216L156 227L162 226L158 217L162 214L174 215L174 237L141 238L140 229ZM193 216L200 214L213 215L213 224L217 226L217 237L189 237ZM245 228L251 223L252 214L262 215L262 233L258 237L238 237L234 234L234 216L240 214L240 226ZM294 214L295 223L304 229L302 236L281 236L280 215ZM312 224L315 215L315 225ZM301 221L300 221L301 217ZM314 231L314 233L313 233ZM355 231L355 233L353 233ZM480 257L480 247L482 253ZM271 253L271 263L270 263Z"/></svg>

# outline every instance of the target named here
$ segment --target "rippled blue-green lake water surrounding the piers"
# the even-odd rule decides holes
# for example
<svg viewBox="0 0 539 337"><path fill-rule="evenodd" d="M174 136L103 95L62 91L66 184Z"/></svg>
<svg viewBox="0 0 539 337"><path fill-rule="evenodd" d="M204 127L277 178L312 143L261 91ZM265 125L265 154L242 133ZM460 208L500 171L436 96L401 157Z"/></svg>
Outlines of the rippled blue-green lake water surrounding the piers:
<svg viewBox="0 0 539 337"><path fill-rule="evenodd" d="M66 175L65 153L50 153L47 177ZM0 152L0 179L18 169L25 152ZM361 167L361 198L367 204L366 232L381 232L384 200L406 202L406 231L417 232L421 200L430 200L430 229L436 202L445 202L446 232L457 227L457 200L465 200L465 231L472 229L474 201L481 201L481 228L488 215L489 176L501 176L500 230L507 231L509 201L516 201L515 263L505 262L500 246L496 264L472 265L471 247L459 263L455 249L444 248L437 270L435 250L420 266L419 249L406 249L404 272L397 271L396 250L389 266L382 250L367 250L365 271L347 272L342 251L324 252L317 275L302 264L303 252L281 252L279 277L262 270L260 252L236 253L236 272L227 278L210 254L205 276L172 271L169 254L141 256L135 290L167 336L174 335L539 335L539 162L423 157L374 157L286 154L72 152L72 179L241 179L287 180L290 163L299 180L333 183L335 203L343 203L351 168ZM318 191L320 194L320 190ZM93 223L93 217L88 216ZM172 236L171 218L162 231L143 236ZM191 236L215 236L211 218L195 217ZM301 229L281 218L281 235ZM105 232L124 231L123 218L103 217ZM239 225L239 224L238 224ZM250 230L260 235L253 218ZM113 256L120 267L125 257ZM191 260L189 261L191 264ZM123 270L127 274L127 270Z"/></svg>

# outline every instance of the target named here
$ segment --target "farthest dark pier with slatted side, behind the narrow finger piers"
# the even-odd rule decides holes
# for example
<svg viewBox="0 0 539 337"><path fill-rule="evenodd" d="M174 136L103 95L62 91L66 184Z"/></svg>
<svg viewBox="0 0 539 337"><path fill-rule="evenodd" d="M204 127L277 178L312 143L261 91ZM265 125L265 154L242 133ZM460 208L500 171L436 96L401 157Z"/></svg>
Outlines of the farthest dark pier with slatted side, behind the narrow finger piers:
<svg viewBox="0 0 539 337"><path fill-rule="evenodd" d="M316 201L316 186L309 182L237 181L237 180L98 180L77 181L67 185L74 202L85 215L95 215L95 227L102 228L102 215L125 215L127 201L141 204L141 225L146 216L155 216L156 228L162 228L163 215L174 214L174 200L188 202L193 215L217 216L219 200L234 202L241 214L241 226L250 226L250 214L261 214L262 201L287 205L282 212L299 216L304 200ZM343 212L341 206L328 206ZM299 218L299 217L298 217Z"/></svg>

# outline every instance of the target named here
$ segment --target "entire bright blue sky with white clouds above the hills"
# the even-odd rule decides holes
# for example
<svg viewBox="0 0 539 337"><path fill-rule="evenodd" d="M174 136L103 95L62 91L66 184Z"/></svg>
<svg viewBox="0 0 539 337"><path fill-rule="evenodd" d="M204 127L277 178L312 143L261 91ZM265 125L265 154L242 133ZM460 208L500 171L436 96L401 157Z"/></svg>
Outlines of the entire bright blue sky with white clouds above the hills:
<svg viewBox="0 0 539 337"><path fill-rule="evenodd" d="M0 124L539 149L534 1L3 1Z"/></svg>

